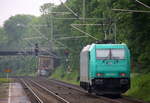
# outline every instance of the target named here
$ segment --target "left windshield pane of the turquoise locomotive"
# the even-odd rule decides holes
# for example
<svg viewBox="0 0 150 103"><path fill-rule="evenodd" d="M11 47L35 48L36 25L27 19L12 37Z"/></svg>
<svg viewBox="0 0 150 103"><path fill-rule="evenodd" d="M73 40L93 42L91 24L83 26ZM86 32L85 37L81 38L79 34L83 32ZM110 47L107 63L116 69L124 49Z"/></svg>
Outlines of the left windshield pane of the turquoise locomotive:
<svg viewBox="0 0 150 103"><path fill-rule="evenodd" d="M96 50L96 58L97 59L109 59L110 58L110 50L109 49L97 49Z"/></svg>

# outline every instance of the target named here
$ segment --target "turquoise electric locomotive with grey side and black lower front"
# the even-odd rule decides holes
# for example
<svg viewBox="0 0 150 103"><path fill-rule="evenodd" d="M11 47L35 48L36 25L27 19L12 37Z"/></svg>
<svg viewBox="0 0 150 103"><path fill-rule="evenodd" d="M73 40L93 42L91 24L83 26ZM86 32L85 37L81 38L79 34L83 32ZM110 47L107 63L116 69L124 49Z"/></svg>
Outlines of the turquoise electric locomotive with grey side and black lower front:
<svg viewBox="0 0 150 103"><path fill-rule="evenodd" d="M80 53L80 86L89 93L117 94L130 88L130 52L126 44L92 44Z"/></svg>

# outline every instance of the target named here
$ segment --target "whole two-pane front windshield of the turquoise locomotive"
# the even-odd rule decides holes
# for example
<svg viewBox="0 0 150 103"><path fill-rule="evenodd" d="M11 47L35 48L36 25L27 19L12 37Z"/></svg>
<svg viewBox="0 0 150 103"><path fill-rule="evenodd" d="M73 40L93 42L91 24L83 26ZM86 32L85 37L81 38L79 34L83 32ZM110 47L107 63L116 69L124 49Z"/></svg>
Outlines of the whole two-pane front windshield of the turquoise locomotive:
<svg viewBox="0 0 150 103"><path fill-rule="evenodd" d="M125 51L124 49L97 49L96 50L97 59L124 59Z"/></svg>

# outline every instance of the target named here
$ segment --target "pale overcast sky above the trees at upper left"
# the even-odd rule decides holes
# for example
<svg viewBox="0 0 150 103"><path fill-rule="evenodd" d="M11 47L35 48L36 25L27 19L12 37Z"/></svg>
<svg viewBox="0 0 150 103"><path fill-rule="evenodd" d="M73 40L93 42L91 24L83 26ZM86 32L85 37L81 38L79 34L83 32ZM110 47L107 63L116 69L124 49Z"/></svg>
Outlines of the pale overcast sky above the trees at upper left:
<svg viewBox="0 0 150 103"><path fill-rule="evenodd" d="M65 0L62 0L65 1ZM0 26L10 16L16 14L40 15L39 8L44 3L55 3L59 5L59 0L0 0Z"/></svg>

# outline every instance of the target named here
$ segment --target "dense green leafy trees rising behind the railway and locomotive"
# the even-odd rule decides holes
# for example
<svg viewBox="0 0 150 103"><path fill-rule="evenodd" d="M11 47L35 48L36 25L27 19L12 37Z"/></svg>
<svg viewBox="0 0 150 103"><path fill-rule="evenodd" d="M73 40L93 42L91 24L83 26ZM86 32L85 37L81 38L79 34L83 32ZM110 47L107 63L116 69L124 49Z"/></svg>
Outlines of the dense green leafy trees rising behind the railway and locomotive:
<svg viewBox="0 0 150 103"><path fill-rule="evenodd" d="M138 72L149 72L150 14L117 12L112 10L113 8L133 10L148 9L131 0L85 0L86 18L98 19L84 20L82 2L82 0L67 0L65 5L61 4L58 6L47 3L41 6L40 11L43 15L40 17L16 15L9 18L9 20L5 22L4 27L0 28L0 49L22 50L28 48L32 50L33 45L38 43L40 47L48 48L48 51L53 49L61 58L60 61L63 66L67 65L66 68L70 66L72 70L79 71L80 51L85 45L95 42L95 39L72 28L71 24L102 24L101 26L84 25L76 27L97 38L97 40L104 39L105 35L107 35L108 39L115 39L116 32L117 43L124 42L129 45L132 53L132 61L136 66L135 68L138 68ZM149 0L143 0L142 2L147 5L150 4ZM70 10L65 7L66 5L78 16L70 12ZM66 14L56 12L65 12ZM117 25L117 31L115 30L115 24ZM66 38L76 36L87 37ZM34 37L39 38L28 41L24 40L24 38ZM64 51L66 50L69 51L69 56L65 56ZM33 68L32 71L34 72L36 68L36 61L33 60L34 57L18 57L14 58L14 60L9 60L8 58L6 57L0 60L1 70L8 67L15 68L15 70L23 68L22 70L18 70L18 73L22 73L29 68ZM66 59L69 59L69 61L66 62ZM22 62L23 60L24 62ZM144 68L145 70L143 70Z"/></svg>

